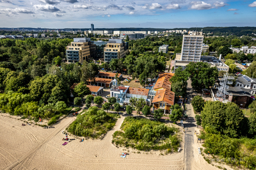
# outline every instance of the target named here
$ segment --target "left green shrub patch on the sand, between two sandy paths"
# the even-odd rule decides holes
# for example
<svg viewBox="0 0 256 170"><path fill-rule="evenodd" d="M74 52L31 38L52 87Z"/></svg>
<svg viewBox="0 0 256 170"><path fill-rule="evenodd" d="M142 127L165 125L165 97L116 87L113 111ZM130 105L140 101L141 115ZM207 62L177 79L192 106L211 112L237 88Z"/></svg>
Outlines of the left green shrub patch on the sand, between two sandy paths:
<svg viewBox="0 0 256 170"><path fill-rule="evenodd" d="M120 118L118 114L107 113L103 109L93 106L83 114L79 114L67 131L78 136L102 139L115 126L117 118Z"/></svg>

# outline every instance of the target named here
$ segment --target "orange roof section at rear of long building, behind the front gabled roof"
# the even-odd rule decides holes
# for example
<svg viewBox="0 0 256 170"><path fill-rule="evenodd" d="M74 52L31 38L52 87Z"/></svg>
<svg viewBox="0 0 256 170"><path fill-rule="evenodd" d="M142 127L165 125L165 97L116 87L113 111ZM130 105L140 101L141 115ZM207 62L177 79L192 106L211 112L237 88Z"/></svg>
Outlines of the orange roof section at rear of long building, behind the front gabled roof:
<svg viewBox="0 0 256 170"><path fill-rule="evenodd" d="M169 79L173 77L174 73L161 73L159 74L159 77L156 81L156 84L153 89L158 89L158 88L164 88L164 89L171 89L171 82Z"/></svg>

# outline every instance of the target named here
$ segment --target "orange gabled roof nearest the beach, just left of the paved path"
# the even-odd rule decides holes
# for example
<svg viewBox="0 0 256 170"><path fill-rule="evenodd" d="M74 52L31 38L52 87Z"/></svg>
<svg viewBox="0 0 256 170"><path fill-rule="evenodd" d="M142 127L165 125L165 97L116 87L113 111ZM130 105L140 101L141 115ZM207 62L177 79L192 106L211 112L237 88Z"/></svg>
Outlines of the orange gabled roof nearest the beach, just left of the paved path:
<svg viewBox="0 0 256 170"><path fill-rule="evenodd" d="M167 104L174 104L175 93L170 89L160 89L156 91L156 96L153 98L152 103L166 102Z"/></svg>

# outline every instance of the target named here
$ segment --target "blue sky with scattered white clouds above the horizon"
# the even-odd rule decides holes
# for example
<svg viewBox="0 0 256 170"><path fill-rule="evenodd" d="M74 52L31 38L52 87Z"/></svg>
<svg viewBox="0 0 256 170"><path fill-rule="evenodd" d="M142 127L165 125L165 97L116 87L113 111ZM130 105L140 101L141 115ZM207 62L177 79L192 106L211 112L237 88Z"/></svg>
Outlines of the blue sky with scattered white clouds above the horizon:
<svg viewBox="0 0 256 170"><path fill-rule="evenodd" d="M0 27L256 26L256 1L0 0Z"/></svg>

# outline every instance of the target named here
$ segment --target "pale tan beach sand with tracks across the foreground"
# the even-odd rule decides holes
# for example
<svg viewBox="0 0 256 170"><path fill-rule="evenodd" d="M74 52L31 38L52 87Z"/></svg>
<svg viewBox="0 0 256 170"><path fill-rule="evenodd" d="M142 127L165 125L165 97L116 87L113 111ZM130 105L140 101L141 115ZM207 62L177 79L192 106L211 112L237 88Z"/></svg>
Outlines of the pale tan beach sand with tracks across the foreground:
<svg viewBox="0 0 256 170"><path fill-rule="evenodd" d="M0 114L0 169L184 169L183 150L164 155L160 151L138 152L111 144L112 134L120 129L124 116L104 139L88 139L80 143L79 139L70 136L75 140L65 146L62 146L65 142L62 141L65 137L62 131L75 117L64 118L53 125L54 128L23 127L23 121L12 117ZM129 155L120 157L127 150ZM204 158L198 163L200 168L195 166L195 169L211 166ZM211 169L218 168L212 166Z"/></svg>

